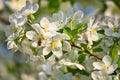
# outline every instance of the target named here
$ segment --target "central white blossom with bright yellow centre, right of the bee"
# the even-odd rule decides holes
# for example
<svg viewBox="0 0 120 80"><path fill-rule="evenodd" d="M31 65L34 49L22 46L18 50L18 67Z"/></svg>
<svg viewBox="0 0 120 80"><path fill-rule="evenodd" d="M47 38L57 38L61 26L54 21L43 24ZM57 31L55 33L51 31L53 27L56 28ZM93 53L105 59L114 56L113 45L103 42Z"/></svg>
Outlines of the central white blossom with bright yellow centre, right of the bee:
<svg viewBox="0 0 120 80"><path fill-rule="evenodd" d="M56 57L61 58L62 53L63 53L62 52L62 41L67 40L67 39L69 39L69 37L64 34L56 34L54 37L52 37L52 39L49 39L46 42L46 45L43 48L43 55L48 55L52 51ZM70 47L69 44L66 43L65 46L66 45Z"/></svg>

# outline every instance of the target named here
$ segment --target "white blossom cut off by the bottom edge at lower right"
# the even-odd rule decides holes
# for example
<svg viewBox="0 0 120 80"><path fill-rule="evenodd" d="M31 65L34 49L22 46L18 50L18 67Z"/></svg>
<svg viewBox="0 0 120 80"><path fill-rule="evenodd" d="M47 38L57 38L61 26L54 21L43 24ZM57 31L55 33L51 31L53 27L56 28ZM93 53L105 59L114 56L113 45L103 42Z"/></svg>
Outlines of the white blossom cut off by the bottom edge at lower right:
<svg viewBox="0 0 120 80"><path fill-rule="evenodd" d="M93 80L112 80L112 77L103 71L94 71L91 73L91 77Z"/></svg>

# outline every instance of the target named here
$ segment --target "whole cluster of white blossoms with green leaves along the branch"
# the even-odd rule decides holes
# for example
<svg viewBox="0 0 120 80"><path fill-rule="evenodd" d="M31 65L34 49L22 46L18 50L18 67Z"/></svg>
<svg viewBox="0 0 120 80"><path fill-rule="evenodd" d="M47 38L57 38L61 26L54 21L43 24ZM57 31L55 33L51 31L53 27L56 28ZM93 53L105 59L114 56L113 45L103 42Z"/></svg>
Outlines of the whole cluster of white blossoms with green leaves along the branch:
<svg viewBox="0 0 120 80"><path fill-rule="evenodd" d="M88 80L119 80L119 19L85 20L81 10L69 8L37 22L33 13L38 8L26 0L9 17L5 34L8 49L37 62L40 80L83 80L82 75Z"/></svg>

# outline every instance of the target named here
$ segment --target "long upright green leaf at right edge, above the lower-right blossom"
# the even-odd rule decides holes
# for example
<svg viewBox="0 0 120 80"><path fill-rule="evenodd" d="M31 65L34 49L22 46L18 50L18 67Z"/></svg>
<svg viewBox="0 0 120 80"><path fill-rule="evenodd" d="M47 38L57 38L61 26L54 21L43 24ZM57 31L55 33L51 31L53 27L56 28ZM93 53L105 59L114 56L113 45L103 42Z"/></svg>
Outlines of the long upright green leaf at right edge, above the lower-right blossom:
<svg viewBox="0 0 120 80"><path fill-rule="evenodd" d="M114 61L118 56L118 45L114 44L110 49L110 56L112 58L112 61Z"/></svg>

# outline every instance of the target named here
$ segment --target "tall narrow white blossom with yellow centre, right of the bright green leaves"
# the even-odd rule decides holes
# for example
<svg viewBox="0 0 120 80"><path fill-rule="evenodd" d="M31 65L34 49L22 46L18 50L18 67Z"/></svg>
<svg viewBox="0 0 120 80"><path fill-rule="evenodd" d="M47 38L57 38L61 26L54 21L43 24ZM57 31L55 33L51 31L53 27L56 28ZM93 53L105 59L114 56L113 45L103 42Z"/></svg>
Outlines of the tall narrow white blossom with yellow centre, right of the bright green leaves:
<svg viewBox="0 0 120 80"><path fill-rule="evenodd" d="M88 40L89 44L92 45L93 41L97 41L99 39L99 35L97 33L98 23L94 23L95 17L91 17L88 23L87 31L84 34L84 37Z"/></svg>

